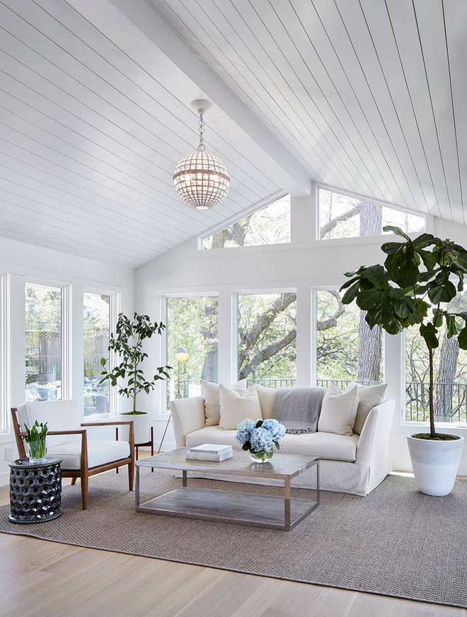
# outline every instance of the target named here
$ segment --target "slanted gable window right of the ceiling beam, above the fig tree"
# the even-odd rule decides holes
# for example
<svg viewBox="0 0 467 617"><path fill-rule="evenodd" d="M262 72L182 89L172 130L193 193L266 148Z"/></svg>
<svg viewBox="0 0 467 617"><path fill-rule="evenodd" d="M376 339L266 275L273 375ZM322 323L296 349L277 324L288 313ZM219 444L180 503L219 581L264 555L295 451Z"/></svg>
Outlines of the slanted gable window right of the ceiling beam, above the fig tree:
<svg viewBox="0 0 467 617"><path fill-rule="evenodd" d="M380 236L385 225L405 233L425 231L425 217L357 197L318 189L319 239Z"/></svg>

